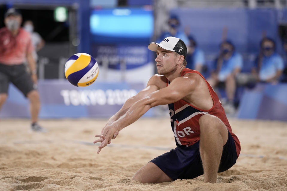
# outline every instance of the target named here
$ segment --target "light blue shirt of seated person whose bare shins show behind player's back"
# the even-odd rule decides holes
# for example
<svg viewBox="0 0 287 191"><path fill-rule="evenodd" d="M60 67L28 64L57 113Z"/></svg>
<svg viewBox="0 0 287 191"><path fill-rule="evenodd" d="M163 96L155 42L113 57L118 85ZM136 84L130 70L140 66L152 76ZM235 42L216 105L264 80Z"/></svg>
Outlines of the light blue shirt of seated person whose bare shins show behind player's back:
<svg viewBox="0 0 287 191"><path fill-rule="evenodd" d="M233 55L228 60L223 60L221 70L218 73L218 80L225 81L227 76L229 76L236 68L242 68L243 59L242 56L234 52Z"/></svg>

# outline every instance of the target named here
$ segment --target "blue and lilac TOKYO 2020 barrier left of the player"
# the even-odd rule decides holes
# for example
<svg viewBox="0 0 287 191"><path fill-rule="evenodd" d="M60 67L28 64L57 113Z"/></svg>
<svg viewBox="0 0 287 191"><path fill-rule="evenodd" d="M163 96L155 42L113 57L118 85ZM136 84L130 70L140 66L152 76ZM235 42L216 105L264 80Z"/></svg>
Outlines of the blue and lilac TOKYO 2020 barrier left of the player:
<svg viewBox="0 0 287 191"><path fill-rule="evenodd" d="M67 80L39 80L40 118L104 117L114 115L124 102L136 95L142 83L104 83L80 88ZM12 84L0 112L1 118L30 117L29 101ZM145 116L150 116L151 111Z"/></svg>

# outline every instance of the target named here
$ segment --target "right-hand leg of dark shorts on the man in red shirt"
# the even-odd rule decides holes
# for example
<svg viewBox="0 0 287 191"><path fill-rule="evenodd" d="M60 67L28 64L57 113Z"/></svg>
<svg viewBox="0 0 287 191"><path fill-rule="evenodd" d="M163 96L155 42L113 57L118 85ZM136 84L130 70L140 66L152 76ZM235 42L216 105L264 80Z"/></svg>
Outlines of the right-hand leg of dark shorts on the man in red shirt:
<svg viewBox="0 0 287 191"><path fill-rule="evenodd" d="M27 97L28 93L36 90L31 76L26 71L25 65L15 66L11 82Z"/></svg>

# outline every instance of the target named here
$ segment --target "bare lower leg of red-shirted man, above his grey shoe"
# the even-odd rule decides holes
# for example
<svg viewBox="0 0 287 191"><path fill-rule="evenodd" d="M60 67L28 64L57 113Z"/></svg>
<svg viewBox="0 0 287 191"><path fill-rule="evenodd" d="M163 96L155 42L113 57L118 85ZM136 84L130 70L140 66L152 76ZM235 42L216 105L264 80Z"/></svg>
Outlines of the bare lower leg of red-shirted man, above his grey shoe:
<svg viewBox="0 0 287 191"><path fill-rule="evenodd" d="M40 96L38 91L37 90L30 91L27 94L27 98L30 100L31 121L32 123L36 123L40 111Z"/></svg>

